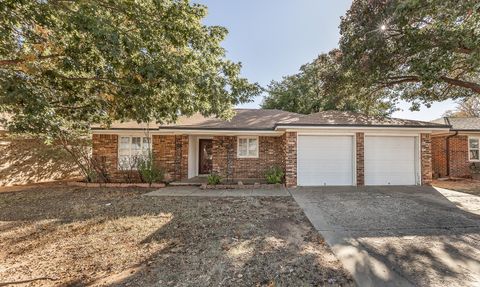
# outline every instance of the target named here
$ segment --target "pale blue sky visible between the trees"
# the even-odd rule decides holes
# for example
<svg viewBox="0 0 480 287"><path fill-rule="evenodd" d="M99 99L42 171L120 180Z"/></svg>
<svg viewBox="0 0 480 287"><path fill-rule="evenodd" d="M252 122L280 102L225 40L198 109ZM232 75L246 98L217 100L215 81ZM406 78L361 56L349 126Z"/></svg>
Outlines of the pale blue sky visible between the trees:
<svg viewBox="0 0 480 287"><path fill-rule="evenodd" d="M347 0L194 0L208 6L207 25L229 30L222 46L229 59L242 62L242 75L266 86L298 72L301 65L337 47L340 16ZM262 97L241 105L258 108ZM432 120L453 109L451 101L410 112L408 104L394 117Z"/></svg>

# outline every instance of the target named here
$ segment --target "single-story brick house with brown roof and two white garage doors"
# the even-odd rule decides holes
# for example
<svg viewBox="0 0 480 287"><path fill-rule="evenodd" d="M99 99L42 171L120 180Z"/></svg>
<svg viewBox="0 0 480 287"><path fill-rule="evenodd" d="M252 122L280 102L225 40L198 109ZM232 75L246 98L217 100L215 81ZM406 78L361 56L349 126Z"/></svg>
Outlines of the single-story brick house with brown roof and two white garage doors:
<svg viewBox="0 0 480 287"><path fill-rule="evenodd" d="M94 126L93 156L113 179L128 157L151 150L171 180L262 179L278 166L288 186L422 185L432 179L431 134L449 131L444 123L352 112L235 112L230 121L196 115L170 125Z"/></svg>

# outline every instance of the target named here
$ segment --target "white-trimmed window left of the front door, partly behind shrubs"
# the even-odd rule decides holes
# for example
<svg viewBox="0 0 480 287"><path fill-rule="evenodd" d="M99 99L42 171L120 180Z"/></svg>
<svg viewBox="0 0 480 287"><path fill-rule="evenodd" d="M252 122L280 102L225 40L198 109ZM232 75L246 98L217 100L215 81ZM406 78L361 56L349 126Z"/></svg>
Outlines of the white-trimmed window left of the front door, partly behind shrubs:
<svg viewBox="0 0 480 287"><path fill-rule="evenodd" d="M119 136L118 167L123 170L136 169L138 160L151 150L149 137Z"/></svg>

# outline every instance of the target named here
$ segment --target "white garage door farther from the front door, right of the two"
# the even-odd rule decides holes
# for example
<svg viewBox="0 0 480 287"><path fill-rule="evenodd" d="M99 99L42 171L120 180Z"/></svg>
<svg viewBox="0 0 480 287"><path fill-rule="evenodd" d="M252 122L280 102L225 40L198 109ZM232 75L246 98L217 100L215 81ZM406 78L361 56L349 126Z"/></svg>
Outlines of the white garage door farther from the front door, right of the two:
<svg viewBox="0 0 480 287"><path fill-rule="evenodd" d="M365 137L366 185L416 184L415 137Z"/></svg>

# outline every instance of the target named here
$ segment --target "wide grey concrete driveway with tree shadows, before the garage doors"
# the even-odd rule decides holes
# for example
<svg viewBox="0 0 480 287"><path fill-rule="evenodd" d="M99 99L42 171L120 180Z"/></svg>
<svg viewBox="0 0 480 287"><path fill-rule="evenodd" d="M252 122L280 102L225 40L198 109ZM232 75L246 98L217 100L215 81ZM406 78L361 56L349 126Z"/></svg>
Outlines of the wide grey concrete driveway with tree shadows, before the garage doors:
<svg viewBox="0 0 480 287"><path fill-rule="evenodd" d="M359 286L480 286L480 197L433 187L290 189Z"/></svg>

